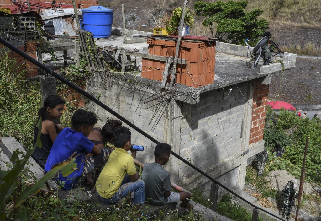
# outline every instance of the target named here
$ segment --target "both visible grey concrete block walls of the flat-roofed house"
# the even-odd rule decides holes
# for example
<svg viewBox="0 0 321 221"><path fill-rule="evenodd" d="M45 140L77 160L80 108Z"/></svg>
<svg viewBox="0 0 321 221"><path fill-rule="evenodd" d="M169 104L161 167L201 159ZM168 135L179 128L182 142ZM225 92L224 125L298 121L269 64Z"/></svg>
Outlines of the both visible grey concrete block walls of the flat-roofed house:
<svg viewBox="0 0 321 221"><path fill-rule="evenodd" d="M144 103L162 95L162 92L158 84L146 84L145 87L143 80L138 79L140 83L136 84L130 83L126 76L111 77L97 73L87 82L87 91L93 96L100 93L101 102L138 128L160 142L170 143L175 153L214 179L219 179L228 188L239 190L244 184L240 176L245 174L246 169L242 165L246 165L247 159L247 156L241 156L246 149L242 149L245 143L242 144L244 137L241 137L248 105L244 96L252 96L247 94L252 83L242 82L201 93L200 102L196 104L180 101L161 103L159 99ZM86 106L100 117L97 126L103 126L108 117L113 117L91 101L87 101ZM153 162L156 145L135 130L131 131L132 143L145 146L145 150L137 154L137 159L143 163ZM248 146L248 141L245 146ZM255 155L256 149L250 152ZM165 169L170 172L172 181L187 190L207 188L212 183L176 157L171 157Z"/></svg>

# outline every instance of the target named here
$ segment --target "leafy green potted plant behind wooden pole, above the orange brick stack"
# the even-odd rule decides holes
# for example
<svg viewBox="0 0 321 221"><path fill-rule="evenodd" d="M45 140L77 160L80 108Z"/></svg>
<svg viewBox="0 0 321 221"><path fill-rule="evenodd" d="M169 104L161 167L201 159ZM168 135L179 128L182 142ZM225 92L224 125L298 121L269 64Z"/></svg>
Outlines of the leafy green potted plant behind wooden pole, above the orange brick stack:
<svg viewBox="0 0 321 221"><path fill-rule="evenodd" d="M170 16L170 20L167 19L166 21L166 30L169 32L169 34L178 34L178 27L181 22L183 14L183 9L181 7L175 8ZM191 12L189 8L186 9L185 18L184 18L184 27L186 30L188 28L192 28L192 25L194 24L195 19L195 13Z"/></svg>

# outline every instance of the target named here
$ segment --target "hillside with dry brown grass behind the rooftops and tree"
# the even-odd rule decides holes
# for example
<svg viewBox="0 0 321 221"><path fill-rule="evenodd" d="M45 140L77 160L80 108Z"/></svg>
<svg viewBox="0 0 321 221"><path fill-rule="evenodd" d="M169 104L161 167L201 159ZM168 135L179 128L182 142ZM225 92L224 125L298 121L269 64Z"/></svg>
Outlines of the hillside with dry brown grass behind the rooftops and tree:
<svg viewBox="0 0 321 221"><path fill-rule="evenodd" d="M205 2L213 2L204 0ZM226 1L226 0L224 0ZM188 7L194 9L195 0L188 1ZM154 18L163 12L184 4L184 0L102 0L100 3L114 9L114 27L123 27L121 4L125 6L126 28L145 31L143 24L155 26ZM285 52L302 55L317 55L321 41L321 1L320 0L248 0L247 11L260 8L264 10L259 18L267 20L273 40L281 45ZM204 17L195 18L191 35L212 36L202 22Z"/></svg>

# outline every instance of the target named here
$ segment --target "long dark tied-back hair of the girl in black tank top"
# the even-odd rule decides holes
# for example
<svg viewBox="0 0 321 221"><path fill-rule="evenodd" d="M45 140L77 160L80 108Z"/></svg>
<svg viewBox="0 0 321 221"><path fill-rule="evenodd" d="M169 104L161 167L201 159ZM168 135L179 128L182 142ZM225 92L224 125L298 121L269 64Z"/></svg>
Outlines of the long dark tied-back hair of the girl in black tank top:
<svg viewBox="0 0 321 221"><path fill-rule="evenodd" d="M54 108L56 107L58 104L65 104L66 102L59 96L57 95L49 95L46 100L43 102L43 107L41 107L38 111L38 120L37 123L39 122L39 119L41 117L42 121L44 120L51 120L53 121L53 119L51 117L49 117L48 115L48 111L47 108ZM56 127L56 124L55 124ZM56 127L56 131L57 133L59 132L58 128Z"/></svg>

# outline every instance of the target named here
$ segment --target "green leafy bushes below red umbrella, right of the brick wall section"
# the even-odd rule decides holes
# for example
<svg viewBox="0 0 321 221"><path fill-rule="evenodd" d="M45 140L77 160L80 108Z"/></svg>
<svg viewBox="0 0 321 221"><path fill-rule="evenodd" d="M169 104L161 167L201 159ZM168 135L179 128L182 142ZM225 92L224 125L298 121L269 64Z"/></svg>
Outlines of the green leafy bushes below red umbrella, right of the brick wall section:
<svg viewBox="0 0 321 221"><path fill-rule="evenodd" d="M264 140L267 149L284 148L282 157L271 157L267 169L285 169L295 177L301 174L306 138L308 152L306 175L308 179L321 181L317 171L321 171L321 121L319 118L301 119L295 113L281 109L278 115L267 108Z"/></svg>

